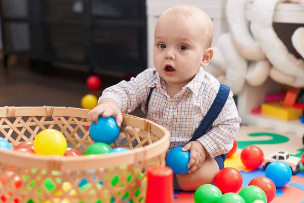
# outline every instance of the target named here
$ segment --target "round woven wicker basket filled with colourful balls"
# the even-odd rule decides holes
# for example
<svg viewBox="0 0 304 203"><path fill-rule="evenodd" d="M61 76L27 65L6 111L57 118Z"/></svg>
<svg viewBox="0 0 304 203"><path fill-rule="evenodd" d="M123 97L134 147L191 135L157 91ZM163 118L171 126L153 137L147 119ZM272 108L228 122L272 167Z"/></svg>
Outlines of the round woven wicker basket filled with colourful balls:
<svg viewBox="0 0 304 203"><path fill-rule="evenodd" d="M58 129L70 147L84 153L94 143L87 131L88 112L65 107L0 108L0 136L14 148L33 141L43 129ZM123 115L121 131L128 141L111 145L131 149L121 154L71 157L0 150L0 202L145 202L146 171L165 165L169 131L130 115ZM135 139L139 144L134 147Z"/></svg>

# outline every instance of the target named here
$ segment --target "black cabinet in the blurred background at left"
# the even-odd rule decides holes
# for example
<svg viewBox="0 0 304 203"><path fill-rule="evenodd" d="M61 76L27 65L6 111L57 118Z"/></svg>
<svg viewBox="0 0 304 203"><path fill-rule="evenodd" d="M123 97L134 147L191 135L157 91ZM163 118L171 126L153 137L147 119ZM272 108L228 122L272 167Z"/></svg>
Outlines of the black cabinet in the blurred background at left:
<svg viewBox="0 0 304 203"><path fill-rule="evenodd" d="M83 65L91 74L146 68L144 1L0 1L5 56Z"/></svg>

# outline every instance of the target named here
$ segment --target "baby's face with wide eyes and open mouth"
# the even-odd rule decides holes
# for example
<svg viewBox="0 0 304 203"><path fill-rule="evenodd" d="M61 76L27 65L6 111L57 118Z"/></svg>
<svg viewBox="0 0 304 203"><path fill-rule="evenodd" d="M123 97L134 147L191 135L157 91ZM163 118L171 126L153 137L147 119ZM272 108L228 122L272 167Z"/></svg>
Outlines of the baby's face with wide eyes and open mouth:
<svg viewBox="0 0 304 203"><path fill-rule="evenodd" d="M191 18L159 20L153 55L156 70L166 83L187 83L197 74L206 50L203 35Z"/></svg>

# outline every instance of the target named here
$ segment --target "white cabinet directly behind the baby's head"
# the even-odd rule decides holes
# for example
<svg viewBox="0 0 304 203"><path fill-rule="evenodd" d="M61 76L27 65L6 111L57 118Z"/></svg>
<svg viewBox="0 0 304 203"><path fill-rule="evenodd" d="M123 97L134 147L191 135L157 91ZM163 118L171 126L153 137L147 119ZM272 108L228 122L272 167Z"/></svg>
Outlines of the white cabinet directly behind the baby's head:
<svg viewBox="0 0 304 203"><path fill-rule="evenodd" d="M225 5L226 0L200 1L200 0L146 0L147 12L147 66L154 67L153 62L153 45L154 31L158 18L168 8L179 5L188 4L203 9L213 21L214 33L213 44L216 45L217 39L222 32L228 31L225 21Z"/></svg>

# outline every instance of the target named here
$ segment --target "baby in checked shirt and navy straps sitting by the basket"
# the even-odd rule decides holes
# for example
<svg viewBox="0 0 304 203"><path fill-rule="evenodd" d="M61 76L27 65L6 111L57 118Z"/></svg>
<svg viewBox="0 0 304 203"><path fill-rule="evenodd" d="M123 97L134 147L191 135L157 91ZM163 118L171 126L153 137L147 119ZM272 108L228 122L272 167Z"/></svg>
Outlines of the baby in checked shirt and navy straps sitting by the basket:
<svg viewBox="0 0 304 203"><path fill-rule="evenodd" d="M212 20L201 9L179 5L166 10L155 28L155 69L106 88L88 114L90 122L112 116L121 126L122 112L141 104L147 119L170 131L170 149L190 152L190 170L174 175L175 190L212 184L240 127L230 88L203 70L213 56L212 37Z"/></svg>

